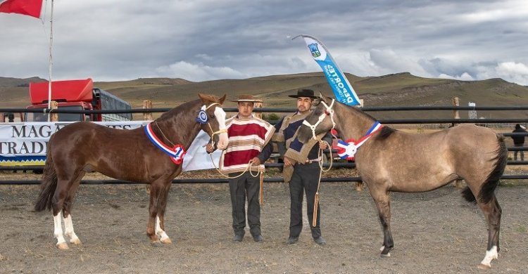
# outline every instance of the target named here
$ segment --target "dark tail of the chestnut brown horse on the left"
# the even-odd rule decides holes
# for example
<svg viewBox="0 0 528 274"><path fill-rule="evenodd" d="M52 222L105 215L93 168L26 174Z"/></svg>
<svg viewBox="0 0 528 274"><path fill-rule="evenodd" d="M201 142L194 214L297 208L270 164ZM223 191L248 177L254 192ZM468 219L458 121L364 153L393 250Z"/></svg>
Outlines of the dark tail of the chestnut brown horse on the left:
<svg viewBox="0 0 528 274"><path fill-rule="evenodd" d="M44 174L42 175L42 183L40 184L40 193L37 202L34 204L35 211L43 211L46 208L48 210L51 209L51 200L54 197L56 188L57 172L54 167L54 160L51 157L50 146L48 145L48 155L44 166Z"/></svg>

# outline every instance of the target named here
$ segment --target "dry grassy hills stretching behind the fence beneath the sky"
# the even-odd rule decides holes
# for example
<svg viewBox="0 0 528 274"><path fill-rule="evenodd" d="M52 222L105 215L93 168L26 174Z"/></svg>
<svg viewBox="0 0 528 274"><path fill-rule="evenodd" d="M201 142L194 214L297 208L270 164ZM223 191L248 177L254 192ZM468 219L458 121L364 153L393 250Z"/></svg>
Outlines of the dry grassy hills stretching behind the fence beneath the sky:
<svg viewBox="0 0 528 274"><path fill-rule="evenodd" d="M415 106L451 105L453 97L460 98L460 105L468 102L486 105L528 105L528 87L513 84L503 79L483 81L458 81L451 79L429 79L416 77L408 72L381 77L357 77L346 74L358 96L367 106ZM28 84L43 79L13 79L0 77L0 107L25 107L29 101ZM322 72L272 75L249 79L222 79L191 82L184 79L140 78L132 81L95 82L95 85L140 107L143 100L152 100L153 107L172 107L196 98L196 93L227 94L235 98L241 93L251 93L265 101L265 107L294 107L287 97L297 89L308 88L332 96ZM226 103L234 107L234 103ZM451 117L444 112L372 112L380 119L412 117ZM467 117L467 112L461 112ZM479 111L479 117L527 118L528 112Z"/></svg>

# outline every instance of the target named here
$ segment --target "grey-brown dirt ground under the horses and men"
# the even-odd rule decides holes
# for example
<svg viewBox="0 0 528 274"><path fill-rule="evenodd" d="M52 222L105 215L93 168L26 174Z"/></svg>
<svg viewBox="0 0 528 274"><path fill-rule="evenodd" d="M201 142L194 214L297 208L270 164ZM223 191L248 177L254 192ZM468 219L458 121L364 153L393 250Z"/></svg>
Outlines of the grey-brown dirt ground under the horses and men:
<svg viewBox="0 0 528 274"><path fill-rule="evenodd" d="M299 242L285 243L284 183L265 184L264 242L253 242L249 231L243 242L232 242L228 186L220 183L172 185L165 218L173 243L162 247L153 247L145 234L144 185L81 185L72 215L83 244L58 250L51 213L32 211L38 188L0 185L0 273L528 272L527 184L503 183L497 190L501 252L486 271L477 269L486 251L484 217L451 185L391 195L395 248L389 258L379 256L383 236L372 198L366 188L356 192L354 183L322 183L323 247L313 242L306 222Z"/></svg>

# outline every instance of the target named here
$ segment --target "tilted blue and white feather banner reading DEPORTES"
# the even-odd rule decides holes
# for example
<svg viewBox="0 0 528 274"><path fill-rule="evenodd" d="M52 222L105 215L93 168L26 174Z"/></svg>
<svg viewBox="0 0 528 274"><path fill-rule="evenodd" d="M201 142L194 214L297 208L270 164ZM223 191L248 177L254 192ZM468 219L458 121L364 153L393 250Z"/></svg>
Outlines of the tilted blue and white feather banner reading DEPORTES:
<svg viewBox="0 0 528 274"><path fill-rule="evenodd" d="M337 67L327 48L315 37L301 34L293 39L297 37L303 37L310 53L312 53L313 59L320 65L322 72L327 77L328 84L332 86L336 100L345 105L360 105L356 91L346 79L345 74Z"/></svg>

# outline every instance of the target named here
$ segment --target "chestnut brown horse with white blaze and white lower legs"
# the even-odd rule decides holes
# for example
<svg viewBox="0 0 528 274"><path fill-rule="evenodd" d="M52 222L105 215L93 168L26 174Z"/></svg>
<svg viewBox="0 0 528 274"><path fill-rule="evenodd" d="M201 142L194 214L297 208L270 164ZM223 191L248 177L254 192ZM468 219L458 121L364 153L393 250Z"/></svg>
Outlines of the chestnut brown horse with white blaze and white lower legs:
<svg viewBox="0 0 528 274"><path fill-rule="evenodd" d="M34 209L53 210L56 246L68 249L64 235L70 238L70 243L81 244L70 213L80 181L91 171L150 184L146 234L154 245L170 244L163 221L170 185L182 172L182 157L200 130L206 131L218 148L227 146L225 112L221 107L224 100L225 95L219 99L199 94L198 100L183 103L139 129L111 129L76 122L54 133L47 146Z"/></svg>

